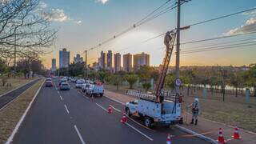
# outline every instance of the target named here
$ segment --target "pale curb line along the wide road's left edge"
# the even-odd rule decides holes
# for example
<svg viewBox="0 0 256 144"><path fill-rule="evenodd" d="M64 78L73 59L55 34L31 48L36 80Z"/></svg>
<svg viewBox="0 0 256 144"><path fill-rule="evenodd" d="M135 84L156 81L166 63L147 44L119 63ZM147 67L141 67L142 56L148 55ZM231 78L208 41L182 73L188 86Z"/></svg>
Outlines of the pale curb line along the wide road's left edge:
<svg viewBox="0 0 256 144"><path fill-rule="evenodd" d="M46 80L43 80L42 85L44 84L45 81ZM38 93L41 90L42 85L39 87L36 94L34 94L34 98L31 100L29 106L27 106L25 112L22 114L22 118L19 119L19 121L18 121L17 125L15 126L13 132L10 134L10 137L7 139L6 144L10 144L13 141L15 134L18 132L19 127L22 125L22 122L24 121L24 119L26 117L26 114L28 113L28 111L30 110L30 107L32 106L32 103L34 102L34 99L38 96Z"/></svg>

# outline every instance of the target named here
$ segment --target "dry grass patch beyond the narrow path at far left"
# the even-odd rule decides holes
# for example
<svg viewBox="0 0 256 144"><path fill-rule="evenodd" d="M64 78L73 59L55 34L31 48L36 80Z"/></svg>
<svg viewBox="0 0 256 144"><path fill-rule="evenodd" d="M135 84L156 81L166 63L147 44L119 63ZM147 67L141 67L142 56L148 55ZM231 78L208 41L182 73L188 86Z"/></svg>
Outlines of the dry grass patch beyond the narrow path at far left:
<svg viewBox="0 0 256 144"><path fill-rule="evenodd" d="M2 86L2 82L0 81L0 95L5 94L6 92L10 90L14 90L18 86L25 85L26 83L32 81L34 78L9 78L7 80L7 83L11 83L11 87Z"/></svg>

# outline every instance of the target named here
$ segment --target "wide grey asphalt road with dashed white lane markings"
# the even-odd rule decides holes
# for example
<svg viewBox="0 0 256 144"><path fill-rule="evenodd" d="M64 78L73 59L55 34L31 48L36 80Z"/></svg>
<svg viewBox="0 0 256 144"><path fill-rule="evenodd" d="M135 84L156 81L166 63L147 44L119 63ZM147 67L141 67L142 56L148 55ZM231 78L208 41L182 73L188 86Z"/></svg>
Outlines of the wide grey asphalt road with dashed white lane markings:
<svg viewBox="0 0 256 144"><path fill-rule="evenodd" d="M55 82L57 84L57 82ZM166 134L174 136L172 143L207 143L178 130L176 127L156 127L148 130L140 120L120 122L124 107L106 97L90 98L74 89L60 91L57 87L42 87L29 114L14 137L21 144L150 144L166 143ZM108 114L107 107L114 107Z"/></svg>

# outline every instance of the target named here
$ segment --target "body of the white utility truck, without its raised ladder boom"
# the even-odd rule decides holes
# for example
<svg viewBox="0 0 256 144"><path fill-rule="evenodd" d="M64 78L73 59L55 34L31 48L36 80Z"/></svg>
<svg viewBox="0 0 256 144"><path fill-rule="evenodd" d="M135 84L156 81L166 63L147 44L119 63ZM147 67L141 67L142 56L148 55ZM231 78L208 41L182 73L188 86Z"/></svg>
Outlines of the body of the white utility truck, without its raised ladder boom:
<svg viewBox="0 0 256 144"><path fill-rule="evenodd" d="M139 116L144 119L144 125L166 126L174 125L182 120L181 104L164 100L164 102L154 102L148 98L138 98L132 102L126 102L126 115Z"/></svg>

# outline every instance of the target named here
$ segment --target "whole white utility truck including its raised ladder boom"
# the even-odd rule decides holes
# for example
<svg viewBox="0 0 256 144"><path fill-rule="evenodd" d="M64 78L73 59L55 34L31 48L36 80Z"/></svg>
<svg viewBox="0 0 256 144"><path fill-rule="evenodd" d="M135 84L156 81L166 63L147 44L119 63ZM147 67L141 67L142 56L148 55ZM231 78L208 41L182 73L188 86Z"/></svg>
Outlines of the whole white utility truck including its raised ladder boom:
<svg viewBox="0 0 256 144"><path fill-rule="evenodd" d="M164 92L164 82L172 51L174 50L174 40L176 32L168 31L166 33L164 43L166 45L166 55L163 59L162 66L159 68L158 81L155 84L154 94L142 94L134 90L128 90L127 94L138 97L133 102L126 103L127 115L138 115L144 119L145 126L164 125L170 126L175 123L182 123L181 97L178 91L176 94ZM176 81L178 81L176 79ZM179 82L179 83L178 83ZM178 81L176 86L180 86Z"/></svg>

